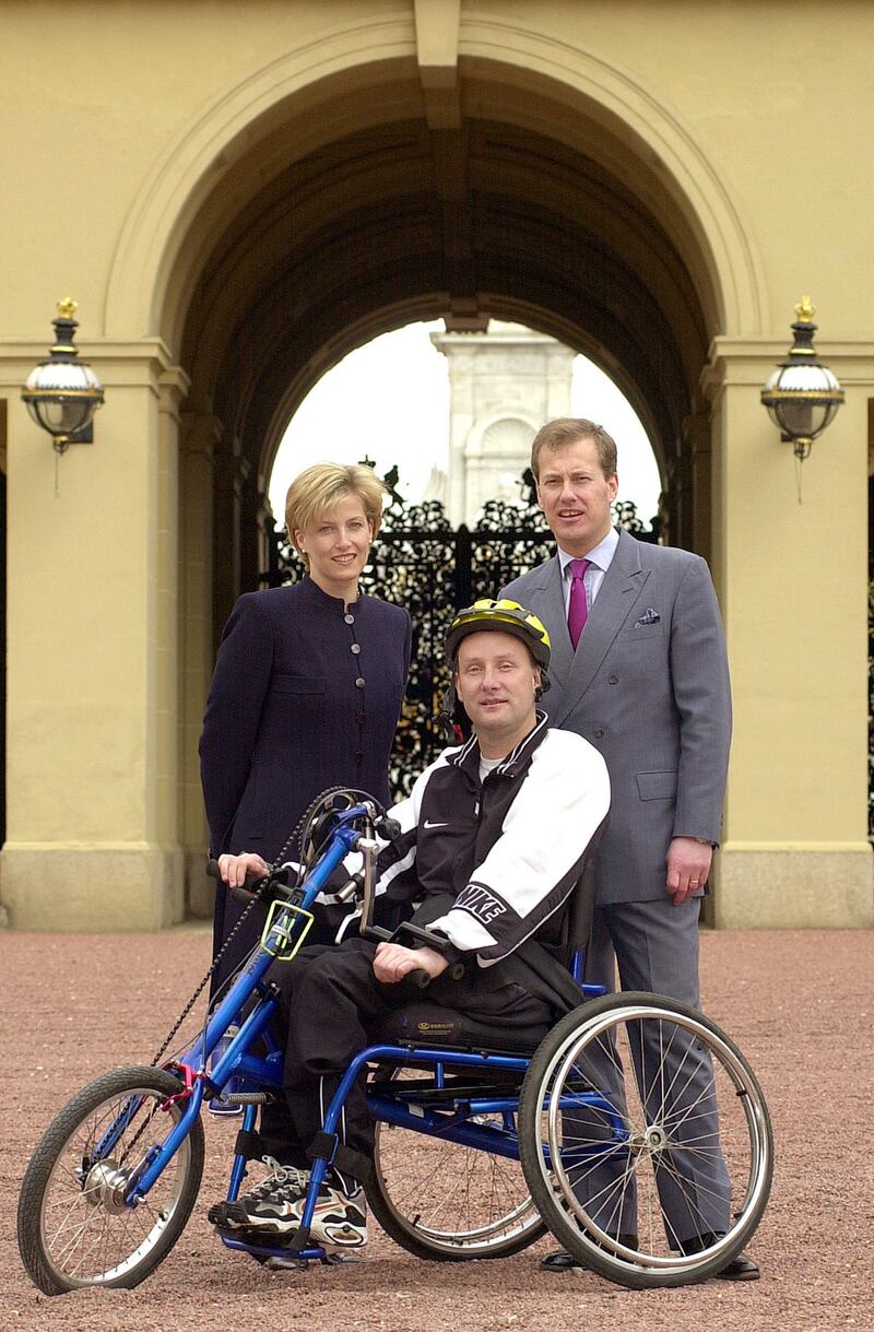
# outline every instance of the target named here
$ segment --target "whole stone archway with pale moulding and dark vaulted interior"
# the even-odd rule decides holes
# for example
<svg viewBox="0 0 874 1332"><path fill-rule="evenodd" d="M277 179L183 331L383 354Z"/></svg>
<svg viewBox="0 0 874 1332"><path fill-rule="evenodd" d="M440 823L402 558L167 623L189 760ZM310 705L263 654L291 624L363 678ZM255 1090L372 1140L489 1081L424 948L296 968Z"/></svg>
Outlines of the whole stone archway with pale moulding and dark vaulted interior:
<svg viewBox="0 0 874 1332"><path fill-rule="evenodd" d="M329 366L414 318L550 333L630 398L671 539L706 551L698 384L715 336L759 332L762 289L691 133L626 71L544 33L465 20L434 45L426 23L361 24L207 108L144 182L105 306L109 337L147 332L191 381L181 843L203 847L195 755L215 635L262 567L282 429Z"/></svg>

